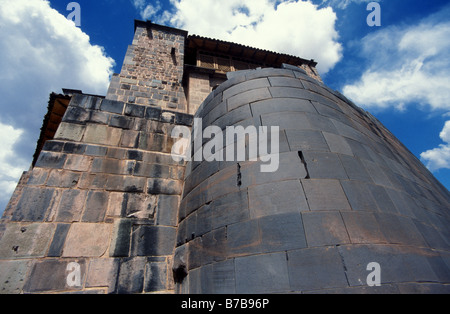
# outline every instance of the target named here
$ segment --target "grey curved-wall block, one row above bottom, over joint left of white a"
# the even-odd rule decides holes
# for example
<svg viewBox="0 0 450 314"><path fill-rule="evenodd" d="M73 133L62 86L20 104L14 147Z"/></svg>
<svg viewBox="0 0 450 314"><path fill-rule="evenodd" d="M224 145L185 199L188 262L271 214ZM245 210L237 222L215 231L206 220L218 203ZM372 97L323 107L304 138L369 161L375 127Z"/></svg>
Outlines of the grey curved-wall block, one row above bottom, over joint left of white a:
<svg viewBox="0 0 450 314"><path fill-rule="evenodd" d="M300 213L278 214L259 219L262 252L305 248L306 238Z"/></svg>

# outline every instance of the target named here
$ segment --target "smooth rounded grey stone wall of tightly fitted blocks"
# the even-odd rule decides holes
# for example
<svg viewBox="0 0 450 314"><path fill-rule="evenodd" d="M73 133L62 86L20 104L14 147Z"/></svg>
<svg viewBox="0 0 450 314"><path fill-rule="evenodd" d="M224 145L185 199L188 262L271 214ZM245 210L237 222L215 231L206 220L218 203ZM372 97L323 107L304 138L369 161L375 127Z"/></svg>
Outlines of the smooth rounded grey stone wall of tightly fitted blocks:
<svg viewBox="0 0 450 314"><path fill-rule="evenodd" d="M176 291L448 293L448 191L370 114L285 67L230 74L196 113L202 129L278 126L279 167L249 161L248 138L247 161L188 163Z"/></svg>

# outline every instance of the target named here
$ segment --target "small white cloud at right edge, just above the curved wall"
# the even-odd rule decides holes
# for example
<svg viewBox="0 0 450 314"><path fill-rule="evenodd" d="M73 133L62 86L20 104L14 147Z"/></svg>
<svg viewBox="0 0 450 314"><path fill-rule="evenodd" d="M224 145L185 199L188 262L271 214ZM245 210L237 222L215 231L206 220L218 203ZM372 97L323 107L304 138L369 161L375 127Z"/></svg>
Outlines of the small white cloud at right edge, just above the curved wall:
<svg viewBox="0 0 450 314"><path fill-rule="evenodd" d="M420 154L422 161L431 171L450 169L450 121L445 123L439 136L445 144Z"/></svg>

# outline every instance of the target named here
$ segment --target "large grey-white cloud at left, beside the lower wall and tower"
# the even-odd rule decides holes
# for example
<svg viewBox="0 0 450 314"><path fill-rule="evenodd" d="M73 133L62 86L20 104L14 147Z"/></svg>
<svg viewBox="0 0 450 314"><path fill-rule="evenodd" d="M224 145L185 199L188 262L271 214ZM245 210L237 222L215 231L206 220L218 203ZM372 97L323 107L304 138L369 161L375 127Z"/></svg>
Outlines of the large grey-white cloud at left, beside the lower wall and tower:
<svg viewBox="0 0 450 314"><path fill-rule="evenodd" d="M19 168L31 163L49 94L65 87L105 94L113 66L104 49L48 1L0 1L0 163L7 160L1 200L9 198ZM4 206L0 201L0 212Z"/></svg>

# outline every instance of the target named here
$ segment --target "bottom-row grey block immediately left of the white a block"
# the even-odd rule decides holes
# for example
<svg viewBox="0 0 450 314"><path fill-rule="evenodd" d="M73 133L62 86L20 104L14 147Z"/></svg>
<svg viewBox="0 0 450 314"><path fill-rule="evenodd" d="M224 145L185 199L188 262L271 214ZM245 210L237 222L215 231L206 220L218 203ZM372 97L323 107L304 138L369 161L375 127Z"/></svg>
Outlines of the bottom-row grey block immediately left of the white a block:
<svg viewBox="0 0 450 314"><path fill-rule="evenodd" d="M288 269L292 291L347 287L344 265L336 248L289 251Z"/></svg>

